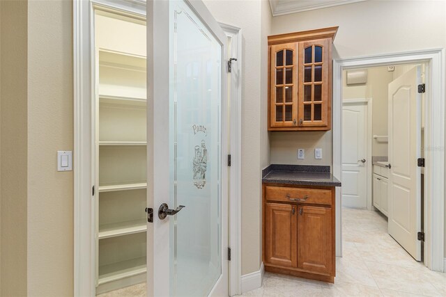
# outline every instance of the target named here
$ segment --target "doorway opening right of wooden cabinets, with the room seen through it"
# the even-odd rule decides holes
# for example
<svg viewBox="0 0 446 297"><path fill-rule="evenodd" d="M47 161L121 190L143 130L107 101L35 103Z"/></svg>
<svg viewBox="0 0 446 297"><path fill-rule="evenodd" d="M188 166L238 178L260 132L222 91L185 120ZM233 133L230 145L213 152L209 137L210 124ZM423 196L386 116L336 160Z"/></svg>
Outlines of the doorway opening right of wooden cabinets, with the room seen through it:
<svg viewBox="0 0 446 297"><path fill-rule="evenodd" d="M416 239L424 228L424 176L422 168L417 169L417 159L423 158L424 93L417 92L417 82L424 83L425 68L424 64L386 65L342 73L344 241L359 248L360 255L373 247L372 259L398 259L406 265L413 259L422 262L422 241L413 243L402 233L415 228L410 236ZM409 72L419 77L410 81ZM405 96L410 88L415 90L414 98ZM419 102L410 105L410 99ZM389 141L389 137L393 138ZM403 161L403 157L407 158ZM405 185L399 183L401 178ZM413 208L416 211L410 211Z"/></svg>

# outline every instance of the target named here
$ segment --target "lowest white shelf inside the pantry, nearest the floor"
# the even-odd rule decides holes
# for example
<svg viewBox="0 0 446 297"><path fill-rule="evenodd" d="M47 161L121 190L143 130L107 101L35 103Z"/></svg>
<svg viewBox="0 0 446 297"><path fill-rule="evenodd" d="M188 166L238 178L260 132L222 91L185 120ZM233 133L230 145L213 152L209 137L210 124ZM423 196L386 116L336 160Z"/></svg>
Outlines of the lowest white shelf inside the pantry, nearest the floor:
<svg viewBox="0 0 446 297"><path fill-rule="evenodd" d="M129 259L114 264L99 266L99 284L122 280L133 275L146 273L146 257Z"/></svg>

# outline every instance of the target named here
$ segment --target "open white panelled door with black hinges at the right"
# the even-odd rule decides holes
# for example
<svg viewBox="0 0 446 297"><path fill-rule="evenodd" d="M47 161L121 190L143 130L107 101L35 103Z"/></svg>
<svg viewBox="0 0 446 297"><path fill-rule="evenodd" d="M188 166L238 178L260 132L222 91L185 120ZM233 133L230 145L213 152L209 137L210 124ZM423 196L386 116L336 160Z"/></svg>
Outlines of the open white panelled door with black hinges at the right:
<svg viewBox="0 0 446 297"><path fill-rule="evenodd" d="M421 67L389 83L389 234L421 261Z"/></svg>

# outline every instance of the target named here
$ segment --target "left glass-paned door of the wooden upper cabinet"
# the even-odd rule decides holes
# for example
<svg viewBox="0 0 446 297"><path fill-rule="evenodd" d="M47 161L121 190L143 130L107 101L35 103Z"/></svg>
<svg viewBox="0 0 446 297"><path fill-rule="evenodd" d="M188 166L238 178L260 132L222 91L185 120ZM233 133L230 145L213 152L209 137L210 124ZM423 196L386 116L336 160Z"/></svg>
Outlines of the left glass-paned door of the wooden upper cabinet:
<svg viewBox="0 0 446 297"><path fill-rule="evenodd" d="M296 43L273 45L270 64L270 125L293 127L298 117L298 47Z"/></svg>

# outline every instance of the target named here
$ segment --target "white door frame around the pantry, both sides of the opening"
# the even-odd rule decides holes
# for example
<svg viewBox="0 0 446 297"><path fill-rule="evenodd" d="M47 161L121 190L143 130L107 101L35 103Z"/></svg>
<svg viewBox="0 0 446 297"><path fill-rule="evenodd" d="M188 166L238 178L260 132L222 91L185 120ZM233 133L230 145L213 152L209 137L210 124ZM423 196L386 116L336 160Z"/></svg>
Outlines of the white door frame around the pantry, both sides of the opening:
<svg viewBox="0 0 446 297"><path fill-rule="evenodd" d="M146 17L146 1L141 0L74 0L73 1L73 91L74 91L74 296L95 296L95 234L94 200L92 185L95 184L91 163L95 155L92 149L91 115L95 113L91 98L94 96L95 70L94 15L95 6L113 12L132 13ZM220 24L226 35L231 35L233 62L231 75L238 75L239 83L231 85L231 187L229 189L230 213L229 236L231 238L231 263L229 293L241 290L241 75L242 31L236 26ZM224 160L222 160L224 161ZM89 200L85 198L89 197Z"/></svg>

